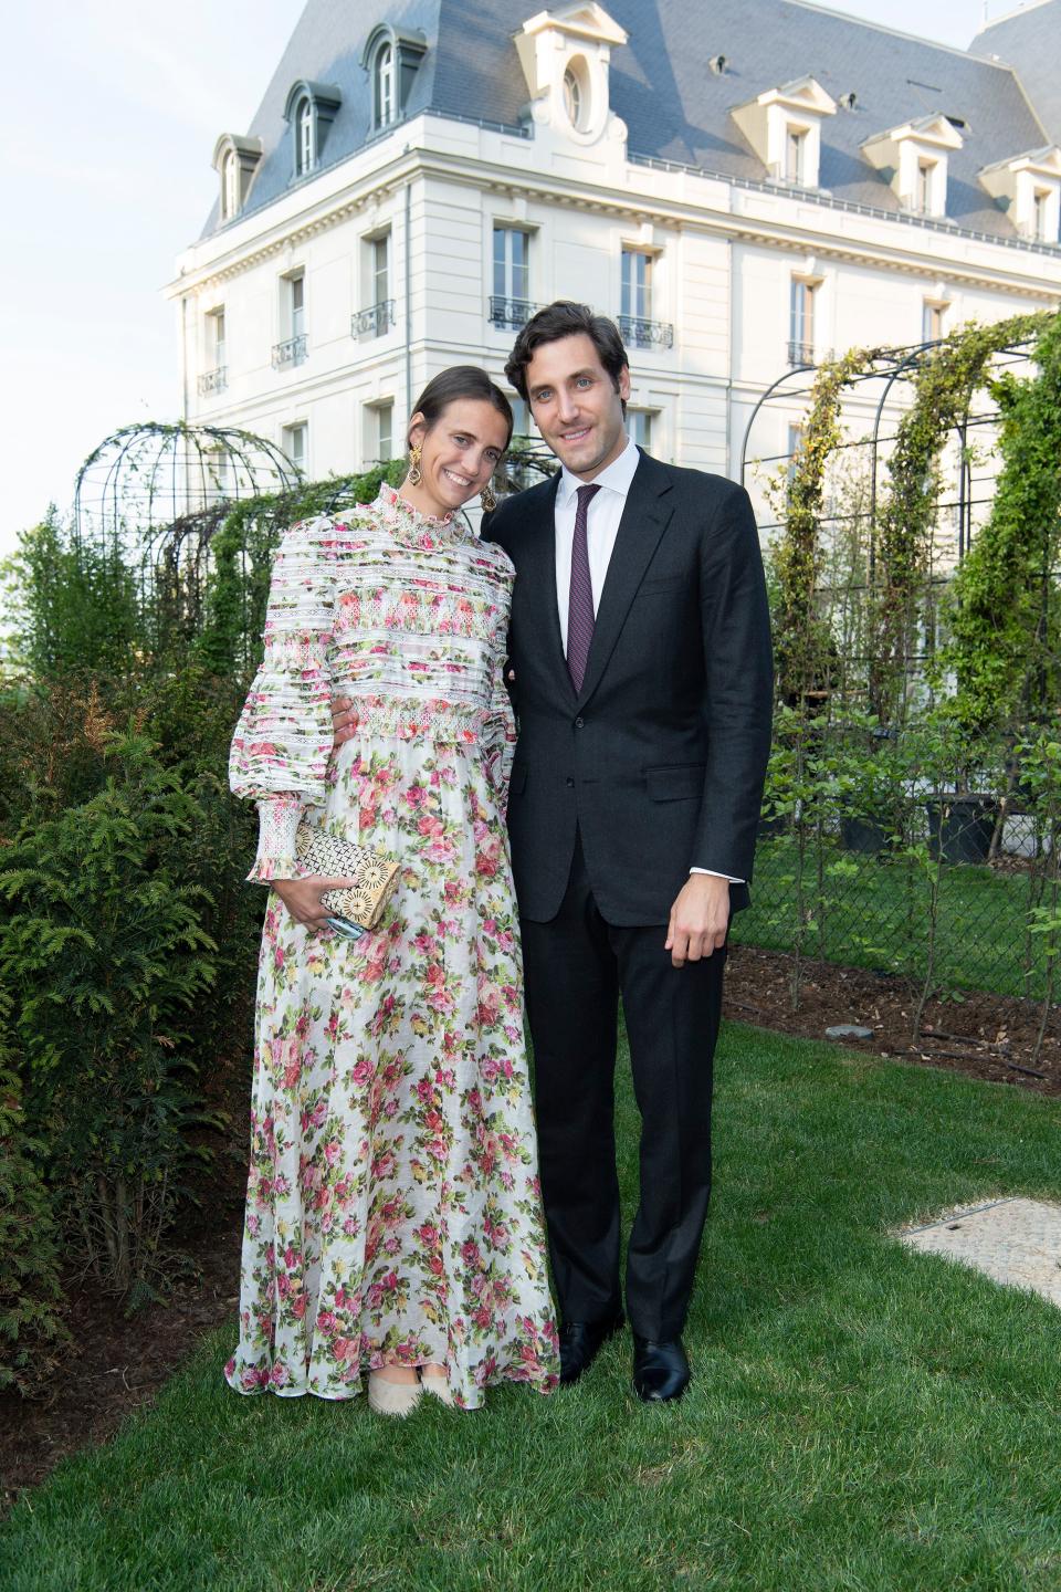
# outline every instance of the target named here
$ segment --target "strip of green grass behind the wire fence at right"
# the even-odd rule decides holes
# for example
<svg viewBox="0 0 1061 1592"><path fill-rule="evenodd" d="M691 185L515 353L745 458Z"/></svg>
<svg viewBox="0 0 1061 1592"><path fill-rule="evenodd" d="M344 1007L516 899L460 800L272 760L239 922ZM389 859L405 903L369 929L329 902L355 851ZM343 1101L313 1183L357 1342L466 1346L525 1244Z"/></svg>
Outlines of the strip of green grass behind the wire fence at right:
<svg viewBox="0 0 1061 1592"><path fill-rule="evenodd" d="M791 837L768 839L756 852L752 907L733 920L733 939L765 950L792 950L795 938L797 849ZM846 966L876 968L923 979L929 946L929 887L902 861L859 856L838 845L822 855L824 912L818 904L818 861L806 849L803 893L813 923L803 954ZM1028 877L989 868L943 866L935 982L943 989L996 995L1045 995L1045 936L1032 936L1026 981Z"/></svg>

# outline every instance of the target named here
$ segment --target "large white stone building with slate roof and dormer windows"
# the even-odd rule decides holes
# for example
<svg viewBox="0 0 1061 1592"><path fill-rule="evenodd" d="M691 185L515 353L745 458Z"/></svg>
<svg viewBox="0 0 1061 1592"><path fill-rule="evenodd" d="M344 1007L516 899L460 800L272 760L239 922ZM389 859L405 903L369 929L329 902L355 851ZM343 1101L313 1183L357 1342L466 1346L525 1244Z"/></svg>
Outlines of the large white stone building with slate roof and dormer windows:
<svg viewBox="0 0 1061 1592"><path fill-rule="evenodd" d="M1040 6L1061 38L1061 0ZM258 131L218 140L218 209L167 290L186 419L264 435L309 476L401 451L417 393L447 365L507 385L515 330L554 298L620 320L638 441L730 476L789 365L1061 299L1061 150L1009 64L748 0L735 18L762 13L764 40L779 11L803 35L778 57L722 19L716 38L740 37L740 59L700 38L682 81L659 35L668 22L681 38L698 0L527 16L485 0L498 24L476 80L487 43L468 5L385 8L342 6L339 83L337 11L318 0L313 32L310 3ZM881 92L875 53L896 41ZM1058 67L1061 80L1061 45ZM904 75L918 84L905 100ZM797 422L797 403L771 406L754 451L783 454Z"/></svg>

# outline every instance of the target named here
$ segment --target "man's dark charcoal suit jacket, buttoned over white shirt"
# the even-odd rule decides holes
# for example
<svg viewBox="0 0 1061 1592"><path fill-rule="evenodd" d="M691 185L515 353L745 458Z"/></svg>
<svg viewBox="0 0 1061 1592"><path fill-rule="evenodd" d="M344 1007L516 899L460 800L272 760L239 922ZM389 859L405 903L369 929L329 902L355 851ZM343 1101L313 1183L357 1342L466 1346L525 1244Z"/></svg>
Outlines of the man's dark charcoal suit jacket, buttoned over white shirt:
<svg viewBox="0 0 1061 1592"><path fill-rule="evenodd" d="M482 530L515 565L520 912L557 914L577 826L604 919L667 923L692 866L751 879L773 693L756 521L743 487L641 454L576 694L557 613L557 486L507 498ZM732 903L748 906L746 885Z"/></svg>

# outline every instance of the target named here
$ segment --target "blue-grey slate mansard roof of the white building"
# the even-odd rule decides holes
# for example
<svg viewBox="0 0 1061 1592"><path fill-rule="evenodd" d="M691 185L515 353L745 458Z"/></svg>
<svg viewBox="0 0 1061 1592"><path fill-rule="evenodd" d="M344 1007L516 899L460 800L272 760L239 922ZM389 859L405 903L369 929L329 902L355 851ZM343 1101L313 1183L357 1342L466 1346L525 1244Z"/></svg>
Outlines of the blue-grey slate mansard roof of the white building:
<svg viewBox="0 0 1061 1592"><path fill-rule="evenodd" d="M371 84L361 62L380 22L426 40L406 118L434 110L517 126L528 89L512 33L541 10L534 0L309 0L247 129L261 139L264 153L240 217L291 186L293 129L283 110L297 80L334 84L342 96L318 170L350 158L374 137ZM762 181L767 172L730 111L767 89L814 76L835 100L856 96L851 110L822 121L821 188L841 201L899 212L896 194L861 145L942 113L966 123L959 126L964 146L950 154L948 217L958 226L1012 239L1013 223L980 186L977 172L1061 142L1061 0L1042 0L1013 19L1024 19L1024 32L1007 24L988 29L977 41L978 54L803 0L606 0L606 11L630 35L625 46L612 49L611 108L627 123L633 156ZM1002 54L999 45L1015 49L1015 40L1021 59L1028 57L1024 88L1010 64L983 59L988 51ZM714 56L727 59L722 75L708 65ZM1024 92L1034 100L1032 76L1047 84L1040 88L1042 119ZM1045 124L1050 118L1051 132ZM215 205L205 234L218 224Z"/></svg>

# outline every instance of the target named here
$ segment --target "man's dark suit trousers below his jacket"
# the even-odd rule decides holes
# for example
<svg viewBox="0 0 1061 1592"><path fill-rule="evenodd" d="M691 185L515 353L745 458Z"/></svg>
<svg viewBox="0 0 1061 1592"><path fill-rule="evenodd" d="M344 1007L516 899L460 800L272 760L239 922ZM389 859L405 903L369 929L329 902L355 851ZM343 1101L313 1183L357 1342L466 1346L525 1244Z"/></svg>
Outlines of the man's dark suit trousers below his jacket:
<svg viewBox="0 0 1061 1592"><path fill-rule="evenodd" d="M678 1337L711 1192L711 1071L725 950L674 968L667 927L604 922L581 841L558 914L522 920L542 1202L560 1315L620 1309L614 1078L619 998L641 1113L641 1191L627 1251L633 1331Z"/></svg>

